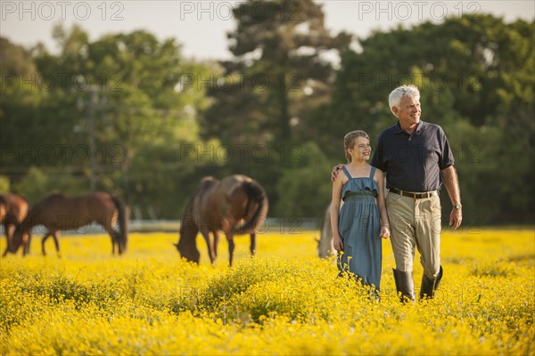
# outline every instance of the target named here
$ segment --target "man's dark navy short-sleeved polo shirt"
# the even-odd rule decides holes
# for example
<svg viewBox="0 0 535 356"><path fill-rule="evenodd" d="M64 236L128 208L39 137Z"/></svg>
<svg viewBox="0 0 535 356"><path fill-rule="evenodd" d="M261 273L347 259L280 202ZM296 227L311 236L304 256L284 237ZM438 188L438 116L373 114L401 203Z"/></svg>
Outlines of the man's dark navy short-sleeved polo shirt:
<svg viewBox="0 0 535 356"><path fill-rule="evenodd" d="M440 189L440 171L453 166L454 158L439 125L420 120L409 135L398 121L379 135L370 164L387 173L386 188L422 192Z"/></svg>

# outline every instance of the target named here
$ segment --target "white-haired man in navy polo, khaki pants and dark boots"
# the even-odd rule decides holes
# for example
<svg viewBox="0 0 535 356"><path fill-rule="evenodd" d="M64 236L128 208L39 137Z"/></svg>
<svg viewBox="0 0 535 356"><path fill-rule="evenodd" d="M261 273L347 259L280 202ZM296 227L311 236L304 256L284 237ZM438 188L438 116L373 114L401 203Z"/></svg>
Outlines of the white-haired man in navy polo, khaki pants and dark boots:
<svg viewBox="0 0 535 356"><path fill-rule="evenodd" d="M379 135L370 164L386 173L396 289L402 302L416 299L412 271L417 247L424 267L420 299L432 298L443 273L439 198L442 183L453 204L449 225L456 230L462 221L453 153L440 125L420 119L420 92L415 85L394 89L389 106L399 121Z"/></svg>

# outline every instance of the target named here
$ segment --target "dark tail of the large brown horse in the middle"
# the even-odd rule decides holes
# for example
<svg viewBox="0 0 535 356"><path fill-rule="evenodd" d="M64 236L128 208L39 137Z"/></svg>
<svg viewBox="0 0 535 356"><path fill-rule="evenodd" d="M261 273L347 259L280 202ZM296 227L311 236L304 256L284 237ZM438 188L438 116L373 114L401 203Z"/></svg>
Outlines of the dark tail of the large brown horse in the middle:
<svg viewBox="0 0 535 356"><path fill-rule="evenodd" d="M247 193L248 201L245 207L245 214L248 213L251 203L257 203L257 209L251 215L249 220L246 220L242 225L235 226L233 232L237 235L243 235L250 231L255 231L260 224L265 223L268 216L268 195L262 186L256 181L242 183L245 192Z"/></svg>

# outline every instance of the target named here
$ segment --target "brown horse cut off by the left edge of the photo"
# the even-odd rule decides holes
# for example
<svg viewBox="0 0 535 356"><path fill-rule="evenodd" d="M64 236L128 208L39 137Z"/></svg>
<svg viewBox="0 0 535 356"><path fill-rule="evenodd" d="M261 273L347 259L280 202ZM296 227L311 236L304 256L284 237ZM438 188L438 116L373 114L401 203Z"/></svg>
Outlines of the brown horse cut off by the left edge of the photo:
<svg viewBox="0 0 535 356"><path fill-rule="evenodd" d="M7 241L4 256L7 255L12 244L15 226L22 223L27 214L28 202L25 198L10 193L0 195L0 223L4 225L5 239ZM29 237L27 239L29 240ZM28 253L29 243L25 248L27 249L26 253Z"/></svg>

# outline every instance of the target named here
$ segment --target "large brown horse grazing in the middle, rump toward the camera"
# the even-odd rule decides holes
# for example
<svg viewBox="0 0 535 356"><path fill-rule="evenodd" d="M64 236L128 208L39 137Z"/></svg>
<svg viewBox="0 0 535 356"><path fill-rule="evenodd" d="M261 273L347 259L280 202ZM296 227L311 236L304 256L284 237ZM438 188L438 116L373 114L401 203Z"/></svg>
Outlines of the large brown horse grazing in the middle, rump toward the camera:
<svg viewBox="0 0 535 356"><path fill-rule="evenodd" d="M256 250L256 231L266 221L268 196L253 179L235 174L218 181L205 177L193 193L182 215L180 238L175 246L182 257L199 263L195 237L201 232L208 247L210 262L218 256L219 231L228 242L228 265L232 266L235 235L251 235L251 255ZM210 235L214 236L210 243Z"/></svg>

